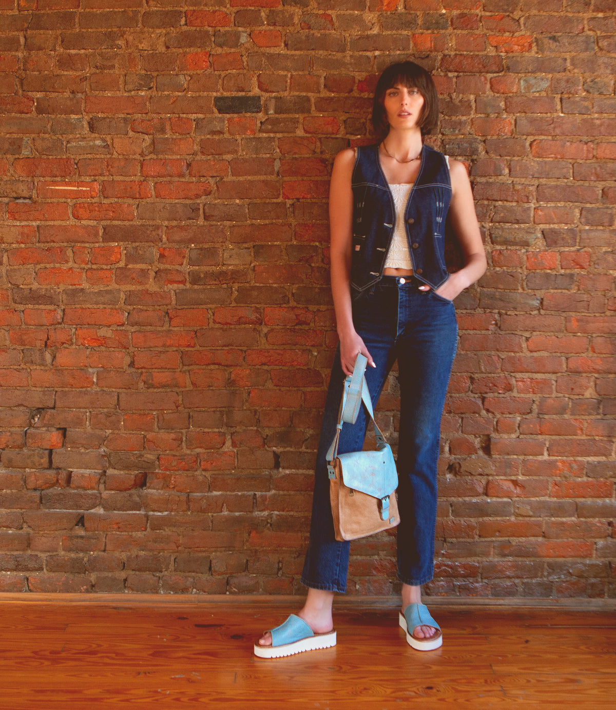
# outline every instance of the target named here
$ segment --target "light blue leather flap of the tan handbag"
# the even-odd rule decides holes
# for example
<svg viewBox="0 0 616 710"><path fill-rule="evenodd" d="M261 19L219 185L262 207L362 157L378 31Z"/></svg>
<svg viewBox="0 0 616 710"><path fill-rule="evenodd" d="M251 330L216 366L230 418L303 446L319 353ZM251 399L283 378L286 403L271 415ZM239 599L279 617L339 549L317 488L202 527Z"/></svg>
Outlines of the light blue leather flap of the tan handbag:
<svg viewBox="0 0 616 710"><path fill-rule="evenodd" d="M394 454L389 444L378 451L355 451L338 456L342 481L347 488L367 493L374 498L391 496L398 486Z"/></svg>

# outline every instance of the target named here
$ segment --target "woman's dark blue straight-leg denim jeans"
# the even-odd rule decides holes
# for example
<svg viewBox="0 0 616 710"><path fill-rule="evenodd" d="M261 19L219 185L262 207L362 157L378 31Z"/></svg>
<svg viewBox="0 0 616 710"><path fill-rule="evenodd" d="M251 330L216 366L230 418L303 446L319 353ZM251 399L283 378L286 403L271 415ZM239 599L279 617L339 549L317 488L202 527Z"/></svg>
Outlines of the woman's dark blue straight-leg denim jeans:
<svg viewBox="0 0 616 710"><path fill-rule="evenodd" d="M377 365L366 368L373 405L398 360L398 578L414 585L426 584L434 572L441 416L458 342L453 302L432 290L420 291L419 285L413 277L384 276L353 305L353 324ZM337 592L346 591L350 543L335 539L325 454L335 434L344 381L337 351L321 427L310 545L302 573L306 586ZM338 453L360 451L366 428L362 407L355 425L342 427Z"/></svg>

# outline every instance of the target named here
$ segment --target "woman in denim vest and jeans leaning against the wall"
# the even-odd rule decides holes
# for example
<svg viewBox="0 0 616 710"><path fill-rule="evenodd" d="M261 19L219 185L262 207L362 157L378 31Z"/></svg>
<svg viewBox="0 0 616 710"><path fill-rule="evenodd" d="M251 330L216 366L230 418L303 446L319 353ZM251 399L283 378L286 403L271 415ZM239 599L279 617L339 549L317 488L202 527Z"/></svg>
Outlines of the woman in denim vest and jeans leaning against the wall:
<svg viewBox="0 0 616 710"><path fill-rule="evenodd" d="M458 338L453 299L480 278L487 263L465 166L423 144L423 134L437 121L438 97L428 72L414 62L391 65L374 94L372 122L379 142L347 148L334 160L331 280L340 344L315 471L302 574L308 596L297 616L255 644L261 657L336 643L333 597L346 588L349 543L335 540L325 452L342 384L358 353L367 357L366 381L375 404L398 360L400 626L413 648L432 650L442 643L438 623L421 603L421 585L433 577L441 416ZM444 263L445 219L465 261L452 274ZM361 450L366 427L362 408L355 425L342 427L339 454Z"/></svg>

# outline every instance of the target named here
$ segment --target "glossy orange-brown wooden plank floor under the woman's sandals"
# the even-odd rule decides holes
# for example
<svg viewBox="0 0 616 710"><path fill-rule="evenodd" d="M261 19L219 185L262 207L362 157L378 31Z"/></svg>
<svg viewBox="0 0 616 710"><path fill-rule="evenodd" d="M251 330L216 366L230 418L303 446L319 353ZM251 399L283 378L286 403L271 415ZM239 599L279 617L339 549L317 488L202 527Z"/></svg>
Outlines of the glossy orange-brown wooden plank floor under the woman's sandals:
<svg viewBox="0 0 616 710"><path fill-rule="evenodd" d="M335 648L263 660L254 638L288 601L14 597L0 598L1 710L616 709L612 611L433 606L443 647L421 653L395 608L339 604Z"/></svg>

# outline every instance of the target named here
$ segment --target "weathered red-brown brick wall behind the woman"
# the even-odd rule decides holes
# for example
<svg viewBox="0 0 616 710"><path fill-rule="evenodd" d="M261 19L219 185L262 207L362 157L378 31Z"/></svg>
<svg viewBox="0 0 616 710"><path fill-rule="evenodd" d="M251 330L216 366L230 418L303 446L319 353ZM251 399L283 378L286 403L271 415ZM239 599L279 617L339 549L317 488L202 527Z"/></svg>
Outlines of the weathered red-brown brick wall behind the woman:
<svg viewBox="0 0 616 710"><path fill-rule="evenodd" d="M490 263L428 591L615 596L615 9L0 0L0 590L301 591L331 160L416 58ZM352 594L393 575L352 546Z"/></svg>

